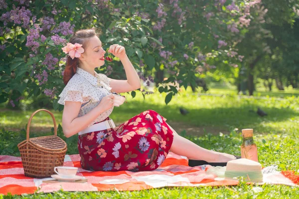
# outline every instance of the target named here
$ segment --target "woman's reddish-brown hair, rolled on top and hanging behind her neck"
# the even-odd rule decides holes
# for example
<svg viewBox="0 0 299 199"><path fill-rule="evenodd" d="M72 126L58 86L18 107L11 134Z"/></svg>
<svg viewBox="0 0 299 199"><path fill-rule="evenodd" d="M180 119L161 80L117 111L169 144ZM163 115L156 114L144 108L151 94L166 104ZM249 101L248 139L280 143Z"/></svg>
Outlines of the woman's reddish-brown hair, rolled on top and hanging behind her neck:
<svg viewBox="0 0 299 199"><path fill-rule="evenodd" d="M75 43L82 44L82 47L85 49L88 39L93 36L99 36L97 35L96 30L94 28L78 30L70 38L69 42L72 44ZM79 62L79 58L75 57L74 59L72 59L70 56L67 57L66 66L63 74L63 83L65 85L67 85L70 79L75 75L78 62Z"/></svg>

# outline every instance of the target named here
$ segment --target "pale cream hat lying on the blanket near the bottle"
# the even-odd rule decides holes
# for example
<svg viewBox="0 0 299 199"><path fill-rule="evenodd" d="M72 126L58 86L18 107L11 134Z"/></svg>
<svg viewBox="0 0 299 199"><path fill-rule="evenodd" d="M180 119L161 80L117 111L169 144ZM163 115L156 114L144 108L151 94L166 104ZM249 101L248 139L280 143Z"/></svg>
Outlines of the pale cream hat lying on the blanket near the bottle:
<svg viewBox="0 0 299 199"><path fill-rule="evenodd" d="M263 181L262 165L253 160L241 158L227 162L225 179L244 177L246 181Z"/></svg>

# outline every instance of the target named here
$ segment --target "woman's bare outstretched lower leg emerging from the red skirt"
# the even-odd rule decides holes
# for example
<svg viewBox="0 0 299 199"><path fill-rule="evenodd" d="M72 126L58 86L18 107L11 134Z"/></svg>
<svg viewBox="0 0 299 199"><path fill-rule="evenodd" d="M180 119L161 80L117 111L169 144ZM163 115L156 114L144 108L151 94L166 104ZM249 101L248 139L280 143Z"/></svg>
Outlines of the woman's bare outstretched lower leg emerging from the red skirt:
<svg viewBox="0 0 299 199"><path fill-rule="evenodd" d="M169 127L173 131L173 142L170 151L177 155L186 156L191 160L204 160L206 162L228 162L236 159L235 156L227 153L220 153L202 148L190 140L178 135L171 126Z"/></svg>

